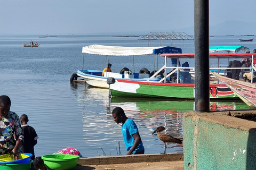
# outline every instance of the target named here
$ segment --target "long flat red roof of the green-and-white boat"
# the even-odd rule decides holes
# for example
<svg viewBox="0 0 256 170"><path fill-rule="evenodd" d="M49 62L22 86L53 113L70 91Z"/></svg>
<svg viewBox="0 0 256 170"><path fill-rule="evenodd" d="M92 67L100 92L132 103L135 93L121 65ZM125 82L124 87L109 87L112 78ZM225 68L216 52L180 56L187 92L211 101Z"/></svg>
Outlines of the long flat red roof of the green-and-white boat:
<svg viewBox="0 0 256 170"><path fill-rule="evenodd" d="M161 54L167 58L195 58L195 54ZM243 54L210 54L210 58L252 58L256 53L243 53Z"/></svg>

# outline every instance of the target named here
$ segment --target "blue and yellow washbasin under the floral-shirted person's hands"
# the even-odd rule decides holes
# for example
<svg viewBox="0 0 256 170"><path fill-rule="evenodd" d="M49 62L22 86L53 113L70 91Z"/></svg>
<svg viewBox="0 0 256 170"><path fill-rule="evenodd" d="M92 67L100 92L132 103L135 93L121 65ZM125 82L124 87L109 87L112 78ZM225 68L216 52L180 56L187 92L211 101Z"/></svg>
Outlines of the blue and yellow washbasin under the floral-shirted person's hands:
<svg viewBox="0 0 256 170"><path fill-rule="evenodd" d="M23 164L23 163L29 163L30 158L32 157L32 154L19 154L20 159L18 160L12 160L12 155L8 157L10 154L4 154L0 156L0 164Z"/></svg>

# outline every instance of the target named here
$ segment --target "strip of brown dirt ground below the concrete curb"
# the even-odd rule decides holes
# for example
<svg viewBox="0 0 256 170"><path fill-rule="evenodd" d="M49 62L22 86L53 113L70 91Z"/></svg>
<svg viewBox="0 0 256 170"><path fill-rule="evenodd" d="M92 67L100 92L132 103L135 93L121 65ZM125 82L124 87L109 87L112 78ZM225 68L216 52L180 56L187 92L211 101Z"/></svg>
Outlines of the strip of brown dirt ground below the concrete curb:
<svg viewBox="0 0 256 170"><path fill-rule="evenodd" d="M130 164L113 164L113 165L77 165L74 170L183 170L183 160L180 161L166 161L166 162L143 162L143 163L130 163Z"/></svg>

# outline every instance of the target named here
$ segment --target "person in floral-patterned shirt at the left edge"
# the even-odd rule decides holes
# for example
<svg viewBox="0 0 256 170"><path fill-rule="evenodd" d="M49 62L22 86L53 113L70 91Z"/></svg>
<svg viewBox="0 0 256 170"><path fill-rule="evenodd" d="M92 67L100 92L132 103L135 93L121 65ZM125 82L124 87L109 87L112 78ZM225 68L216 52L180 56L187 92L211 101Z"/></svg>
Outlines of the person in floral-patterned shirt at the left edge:
<svg viewBox="0 0 256 170"><path fill-rule="evenodd" d="M24 141L19 116L10 111L11 99L0 96L0 155L10 154L19 159L19 149Z"/></svg>

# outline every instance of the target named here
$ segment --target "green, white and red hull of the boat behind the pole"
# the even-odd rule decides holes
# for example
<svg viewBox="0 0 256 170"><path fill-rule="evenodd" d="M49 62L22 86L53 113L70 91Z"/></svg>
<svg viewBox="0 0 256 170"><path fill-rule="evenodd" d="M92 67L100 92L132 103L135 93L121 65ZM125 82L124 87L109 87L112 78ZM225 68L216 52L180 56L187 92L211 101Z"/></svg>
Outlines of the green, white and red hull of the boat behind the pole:
<svg viewBox="0 0 256 170"><path fill-rule="evenodd" d="M194 84L116 80L114 84L110 84L110 91L111 95L116 97L194 99L194 87ZM238 99L238 96L225 84L210 84L209 95L211 99Z"/></svg>

